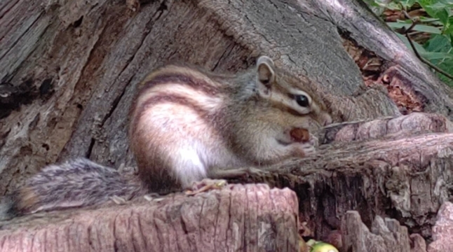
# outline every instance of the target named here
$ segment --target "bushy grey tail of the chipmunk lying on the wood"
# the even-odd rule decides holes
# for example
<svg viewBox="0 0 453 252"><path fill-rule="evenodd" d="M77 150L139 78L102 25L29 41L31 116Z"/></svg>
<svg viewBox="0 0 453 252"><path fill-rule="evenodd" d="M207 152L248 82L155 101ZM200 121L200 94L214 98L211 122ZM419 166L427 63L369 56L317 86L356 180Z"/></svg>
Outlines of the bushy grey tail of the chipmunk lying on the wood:
<svg viewBox="0 0 453 252"><path fill-rule="evenodd" d="M86 158L48 165L0 202L0 220L107 202L110 197L131 198L146 193L142 183L111 167Z"/></svg>

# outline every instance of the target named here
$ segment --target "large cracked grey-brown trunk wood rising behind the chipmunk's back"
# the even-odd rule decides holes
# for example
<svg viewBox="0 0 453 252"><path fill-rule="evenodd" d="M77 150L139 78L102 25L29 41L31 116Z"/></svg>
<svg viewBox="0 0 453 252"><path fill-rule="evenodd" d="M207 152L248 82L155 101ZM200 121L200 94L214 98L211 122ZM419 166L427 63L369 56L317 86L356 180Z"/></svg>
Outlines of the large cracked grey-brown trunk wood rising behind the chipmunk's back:
<svg viewBox="0 0 453 252"><path fill-rule="evenodd" d="M2 83L39 89L50 80L53 95L1 120L0 192L69 156L133 164L126 128L135 85L173 59L234 72L266 53L323 93L337 121L398 113L379 89L356 94L365 86L337 27L299 4L149 1L133 13L123 1L5 0Z"/></svg>

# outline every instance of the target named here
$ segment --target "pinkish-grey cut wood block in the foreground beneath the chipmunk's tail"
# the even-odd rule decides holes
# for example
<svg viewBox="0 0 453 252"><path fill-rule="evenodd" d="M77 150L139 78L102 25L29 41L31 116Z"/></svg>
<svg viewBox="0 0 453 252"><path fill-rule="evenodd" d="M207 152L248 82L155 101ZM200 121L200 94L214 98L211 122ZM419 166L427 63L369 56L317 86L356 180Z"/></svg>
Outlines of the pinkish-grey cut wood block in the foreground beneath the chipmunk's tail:
<svg viewBox="0 0 453 252"><path fill-rule="evenodd" d="M0 251L297 252L297 212L291 190L228 185L194 197L18 218L0 230Z"/></svg>

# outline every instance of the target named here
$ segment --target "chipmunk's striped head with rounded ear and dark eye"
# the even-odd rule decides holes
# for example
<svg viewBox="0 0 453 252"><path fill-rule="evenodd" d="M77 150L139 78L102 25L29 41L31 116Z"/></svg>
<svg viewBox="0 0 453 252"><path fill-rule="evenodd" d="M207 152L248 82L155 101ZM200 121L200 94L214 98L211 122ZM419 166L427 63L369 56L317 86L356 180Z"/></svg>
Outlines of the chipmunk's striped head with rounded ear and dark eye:
<svg viewBox="0 0 453 252"><path fill-rule="evenodd" d="M320 125L332 123L325 104L311 91L307 80L278 69L267 56L257 59L257 89L259 95L273 106L292 116L310 116Z"/></svg>

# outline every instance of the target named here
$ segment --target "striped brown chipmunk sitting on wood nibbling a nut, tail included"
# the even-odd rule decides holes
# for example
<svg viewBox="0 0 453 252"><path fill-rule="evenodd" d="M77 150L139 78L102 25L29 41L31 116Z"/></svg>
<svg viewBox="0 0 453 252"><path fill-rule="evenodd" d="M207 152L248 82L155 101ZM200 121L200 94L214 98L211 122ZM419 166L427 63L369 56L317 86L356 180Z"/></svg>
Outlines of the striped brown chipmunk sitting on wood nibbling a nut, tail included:
<svg viewBox="0 0 453 252"><path fill-rule="evenodd" d="M181 190L205 178L246 172L237 167L311 155L316 138L298 141L291 130L327 125L332 118L307 88L266 56L236 74L161 66L140 83L130 111L130 148L142 183L128 183L116 169L85 158L49 165L4 198L0 219L130 198L144 190Z"/></svg>

